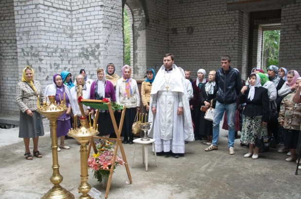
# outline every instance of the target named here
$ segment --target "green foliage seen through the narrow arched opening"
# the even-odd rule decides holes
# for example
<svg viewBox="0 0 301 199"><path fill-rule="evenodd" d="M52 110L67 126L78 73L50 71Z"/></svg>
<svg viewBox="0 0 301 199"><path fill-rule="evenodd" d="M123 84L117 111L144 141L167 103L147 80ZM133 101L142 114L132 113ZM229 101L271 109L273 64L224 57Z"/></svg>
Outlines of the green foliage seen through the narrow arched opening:
<svg viewBox="0 0 301 199"><path fill-rule="evenodd" d="M124 33L124 65L131 66L131 33L130 33L130 22L128 13L123 9L123 33Z"/></svg>

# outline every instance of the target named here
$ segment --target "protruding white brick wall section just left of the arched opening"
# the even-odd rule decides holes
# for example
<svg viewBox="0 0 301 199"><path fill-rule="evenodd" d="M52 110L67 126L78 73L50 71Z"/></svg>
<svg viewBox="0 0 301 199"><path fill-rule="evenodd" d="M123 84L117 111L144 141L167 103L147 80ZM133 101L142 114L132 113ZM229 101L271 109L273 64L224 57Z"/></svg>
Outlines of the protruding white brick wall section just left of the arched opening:
<svg viewBox="0 0 301 199"><path fill-rule="evenodd" d="M123 66L122 4L119 0L72 1L73 66L96 79L98 67Z"/></svg>

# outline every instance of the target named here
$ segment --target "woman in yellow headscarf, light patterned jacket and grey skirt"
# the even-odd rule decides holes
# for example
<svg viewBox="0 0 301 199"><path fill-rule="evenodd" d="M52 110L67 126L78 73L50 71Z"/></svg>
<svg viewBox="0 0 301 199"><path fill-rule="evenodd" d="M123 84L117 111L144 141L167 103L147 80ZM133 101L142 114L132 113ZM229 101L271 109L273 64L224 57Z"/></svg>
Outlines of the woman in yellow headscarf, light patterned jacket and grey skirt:
<svg viewBox="0 0 301 199"><path fill-rule="evenodd" d="M20 109L19 137L23 138L25 145L25 158L32 160L29 142L33 138L33 154L41 158L42 154L38 151L38 138L44 135L42 116L36 111L39 101L44 101L44 95L39 82L34 80L34 70L26 66L22 72L21 82L16 88L16 104Z"/></svg>

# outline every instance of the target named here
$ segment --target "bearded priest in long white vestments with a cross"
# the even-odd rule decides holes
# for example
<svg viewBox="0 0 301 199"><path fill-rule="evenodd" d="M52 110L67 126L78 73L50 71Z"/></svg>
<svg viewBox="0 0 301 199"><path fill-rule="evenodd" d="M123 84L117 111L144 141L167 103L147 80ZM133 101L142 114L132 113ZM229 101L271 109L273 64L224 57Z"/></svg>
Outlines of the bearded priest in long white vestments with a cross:
<svg viewBox="0 0 301 199"><path fill-rule="evenodd" d="M168 55L152 83L149 136L156 139L158 153L172 151L178 158L185 153L185 140L194 141L194 135L186 84Z"/></svg>

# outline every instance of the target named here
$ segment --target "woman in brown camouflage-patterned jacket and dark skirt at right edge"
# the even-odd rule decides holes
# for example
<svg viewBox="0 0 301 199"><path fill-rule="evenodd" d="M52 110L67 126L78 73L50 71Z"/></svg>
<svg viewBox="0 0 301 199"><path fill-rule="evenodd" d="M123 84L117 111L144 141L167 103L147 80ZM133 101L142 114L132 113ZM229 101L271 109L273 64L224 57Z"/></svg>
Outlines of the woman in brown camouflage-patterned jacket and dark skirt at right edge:
<svg viewBox="0 0 301 199"><path fill-rule="evenodd" d="M291 156L285 159L287 162L295 161L298 158L296 149L301 123L301 103L295 103L293 97L300 83L301 78L299 77L295 81L294 92L288 94L282 100L278 118L279 125L284 128L284 146L289 148L291 152Z"/></svg>

